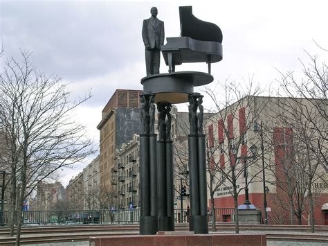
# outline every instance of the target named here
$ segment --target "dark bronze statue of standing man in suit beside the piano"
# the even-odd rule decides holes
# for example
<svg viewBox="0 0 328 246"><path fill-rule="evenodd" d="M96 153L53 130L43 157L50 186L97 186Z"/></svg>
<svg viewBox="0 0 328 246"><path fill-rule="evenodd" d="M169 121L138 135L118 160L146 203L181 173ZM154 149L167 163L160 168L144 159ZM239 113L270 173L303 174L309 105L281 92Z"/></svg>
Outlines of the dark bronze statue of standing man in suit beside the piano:
<svg viewBox="0 0 328 246"><path fill-rule="evenodd" d="M159 73L161 45L164 44L164 22L157 19L157 8L152 7L152 17L143 20L143 43L145 44L147 76Z"/></svg>

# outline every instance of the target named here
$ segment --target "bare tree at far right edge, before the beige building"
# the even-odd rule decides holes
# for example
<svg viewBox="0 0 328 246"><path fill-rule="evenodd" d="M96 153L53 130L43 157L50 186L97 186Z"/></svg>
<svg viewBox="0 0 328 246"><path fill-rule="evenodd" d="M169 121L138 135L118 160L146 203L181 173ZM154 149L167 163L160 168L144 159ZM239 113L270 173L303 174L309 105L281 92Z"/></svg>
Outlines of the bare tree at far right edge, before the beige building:
<svg viewBox="0 0 328 246"><path fill-rule="evenodd" d="M280 108L284 109L280 118L293 129L298 150L306 164L306 167L300 168L307 175L311 231L314 232L313 182L319 178L327 184L328 69L325 62L318 61L318 55L309 55L308 64L300 62L304 74L301 79L295 78L293 72L280 73L280 87L290 98L284 100L284 103L280 102Z"/></svg>

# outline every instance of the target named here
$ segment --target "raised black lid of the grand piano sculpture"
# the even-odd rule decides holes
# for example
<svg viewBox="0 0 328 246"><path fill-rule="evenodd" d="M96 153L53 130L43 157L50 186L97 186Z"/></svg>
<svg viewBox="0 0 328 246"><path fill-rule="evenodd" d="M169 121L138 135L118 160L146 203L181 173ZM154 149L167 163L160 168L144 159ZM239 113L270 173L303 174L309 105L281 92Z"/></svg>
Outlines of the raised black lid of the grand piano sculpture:
<svg viewBox="0 0 328 246"><path fill-rule="evenodd" d="M181 37L191 37L202 41L213 41L222 44L222 32L219 26L201 21L192 15L192 6L179 7Z"/></svg>

